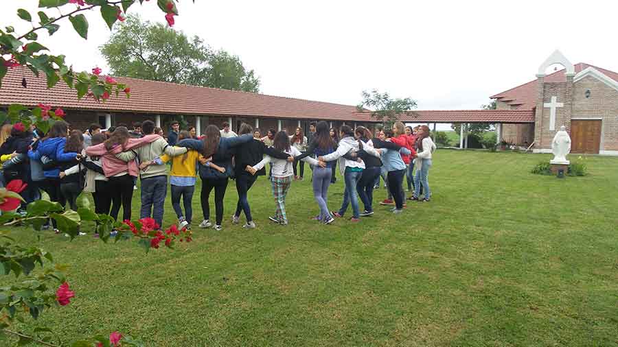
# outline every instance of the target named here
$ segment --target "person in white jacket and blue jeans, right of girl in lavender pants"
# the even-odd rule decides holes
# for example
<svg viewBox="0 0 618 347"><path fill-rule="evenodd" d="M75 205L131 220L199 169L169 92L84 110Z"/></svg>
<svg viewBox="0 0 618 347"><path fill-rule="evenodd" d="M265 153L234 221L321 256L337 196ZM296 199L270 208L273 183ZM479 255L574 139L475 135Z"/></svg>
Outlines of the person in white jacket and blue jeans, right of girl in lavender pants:
<svg viewBox="0 0 618 347"><path fill-rule="evenodd" d="M345 181L345 191L343 192L343 203L338 212L333 212L334 217L343 217L347 205L352 203L352 217L351 222L359 222L361 219L361 212L358 207L358 193L356 191L356 184L358 180L363 176L363 170L365 169L365 162L363 160L356 160L354 158L345 158L346 154L352 154L358 152L360 149L358 146L358 140L354 138L354 130L348 125L343 125L339 130L341 140L339 141L339 147L335 152L320 156L319 161L332 161L339 159L339 171L343 175ZM367 146L369 149L369 146ZM374 150L373 147L369 150Z"/></svg>

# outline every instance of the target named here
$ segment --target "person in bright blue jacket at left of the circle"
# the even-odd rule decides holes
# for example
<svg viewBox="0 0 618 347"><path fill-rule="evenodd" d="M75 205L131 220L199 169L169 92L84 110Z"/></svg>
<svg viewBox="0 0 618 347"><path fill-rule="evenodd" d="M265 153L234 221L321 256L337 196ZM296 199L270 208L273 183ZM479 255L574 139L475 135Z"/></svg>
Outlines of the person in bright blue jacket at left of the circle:
<svg viewBox="0 0 618 347"><path fill-rule="evenodd" d="M79 159L78 154L75 152L65 153L65 144L67 143L67 136L69 136L69 124L65 121L56 121L52 125L52 128L47 133L47 136L38 140L38 146L33 146L36 149L30 149L28 151L28 158L30 160L39 160L43 163L43 181L42 188L49 200L52 202L59 202L62 206L65 206L67 200L62 196L60 192L60 169L58 163ZM36 139L35 139L36 141ZM54 223L54 230L56 229L56 221Z"/></svg>

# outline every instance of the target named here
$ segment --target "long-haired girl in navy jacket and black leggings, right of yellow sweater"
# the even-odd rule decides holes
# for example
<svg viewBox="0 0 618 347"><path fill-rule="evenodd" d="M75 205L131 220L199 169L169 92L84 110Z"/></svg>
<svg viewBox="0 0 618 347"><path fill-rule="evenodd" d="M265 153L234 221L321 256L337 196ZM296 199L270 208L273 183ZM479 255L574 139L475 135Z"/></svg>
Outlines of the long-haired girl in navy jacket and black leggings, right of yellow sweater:
<svg viewBox="0 0 618 347"><path fill-rule="evenodd" d="M253 134L251 133L223 138L216 125L208 125L203 140L184 139L176 144L177 146L201 151L204 158L211 158L212 163L225 169L225 172L221 173L210 167L209 163L206 163L206 165L199 165L200 177L202 178L200 198L204 216L204 220L199 225L200 228L209 228L212 226L210 222L210 204L208 200L210 192L214 189L216 209L216 224L214 225L214 229L222 230L223 198L225 198L227 181L229 180L230 174L233 172L232 157L236 154L237 146L249 141L253 141Z"/></svg>

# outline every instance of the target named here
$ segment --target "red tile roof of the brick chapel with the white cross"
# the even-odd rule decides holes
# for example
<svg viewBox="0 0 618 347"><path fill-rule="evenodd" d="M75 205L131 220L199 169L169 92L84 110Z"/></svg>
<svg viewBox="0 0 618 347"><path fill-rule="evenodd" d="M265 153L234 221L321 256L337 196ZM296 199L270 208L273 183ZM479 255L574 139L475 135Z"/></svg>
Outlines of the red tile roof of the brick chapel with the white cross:
<svg viewBox="0 0 618 347"><path fill-rule="evenodd" d="M588 67L593 67L597 71L602 72L604 75L618 82L618 73L583 62L575 64L575 73L580 73ZM565 71L565 69L562 69L555 73L551 73L551 75L545 76L545 82L565 82L567 80L567 77L564 75ZM516 109L534 108L536 106L536 80L516 86L508 91L492 95L490 98L504 101L509 105L515 106Z"/></svg>

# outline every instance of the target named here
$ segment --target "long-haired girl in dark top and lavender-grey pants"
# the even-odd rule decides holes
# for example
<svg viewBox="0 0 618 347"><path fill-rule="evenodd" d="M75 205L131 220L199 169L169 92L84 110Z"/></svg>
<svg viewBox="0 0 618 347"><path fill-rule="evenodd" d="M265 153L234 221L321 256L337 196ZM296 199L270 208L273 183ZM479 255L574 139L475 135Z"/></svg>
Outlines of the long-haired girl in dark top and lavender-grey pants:
<svg viewBox="0 0 618 347"><path fill-rule="evenodd" d="M318 158L320 156L326 156L335 152L336 145L337 144L330 136L328 123L319 121L315 127L315 134L313 134L309 147L304 154L297 156L295 161L310 155L315 155ZM334 218L328 210L327 205L328 187L330 186L330 182L332 182L332 165L334 165L334 162L330 161L325 163L324 167L316 166L313 168L313 196L320 208L320 214L316 219L324 224L331 224L334 222Z"/></svg>

